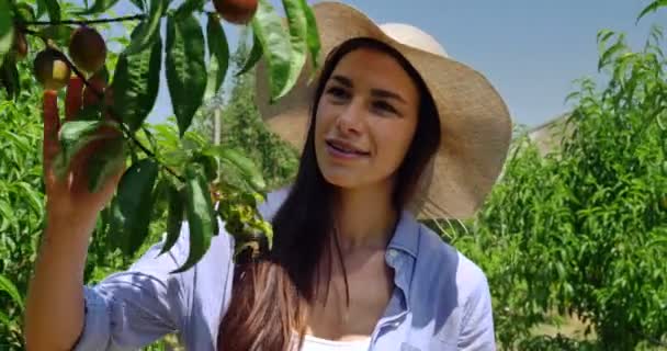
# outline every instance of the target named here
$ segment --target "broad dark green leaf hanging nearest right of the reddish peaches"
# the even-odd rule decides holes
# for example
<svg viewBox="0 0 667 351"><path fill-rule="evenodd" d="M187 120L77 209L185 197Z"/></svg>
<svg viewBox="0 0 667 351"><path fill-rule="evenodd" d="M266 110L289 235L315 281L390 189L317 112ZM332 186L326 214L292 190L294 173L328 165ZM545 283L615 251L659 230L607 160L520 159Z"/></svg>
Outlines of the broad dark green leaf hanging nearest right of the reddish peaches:
<svg viewBox="0 0 667 351"><path fill-rule="evenodd" d="M140 31L139 27L136 31ZM122 113L129 131L137 131L155 105L160 86L162 41L156 36L148 48L135 54L121 54L112 89L114 111Z"/></svg>

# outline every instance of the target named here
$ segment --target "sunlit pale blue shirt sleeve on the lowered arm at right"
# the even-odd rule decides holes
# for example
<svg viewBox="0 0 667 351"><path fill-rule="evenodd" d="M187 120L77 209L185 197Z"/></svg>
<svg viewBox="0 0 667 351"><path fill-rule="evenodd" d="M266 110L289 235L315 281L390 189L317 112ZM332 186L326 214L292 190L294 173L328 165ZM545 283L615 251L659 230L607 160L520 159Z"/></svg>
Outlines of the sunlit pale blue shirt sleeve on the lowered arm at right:
<svg viewBox="0 0 667 351"><path fill-rule="evenodd" d="M494 351L496 339L488 281L479 268L472 262L467 265L466 275L472 284L463 306L459 350Z"/></svg>

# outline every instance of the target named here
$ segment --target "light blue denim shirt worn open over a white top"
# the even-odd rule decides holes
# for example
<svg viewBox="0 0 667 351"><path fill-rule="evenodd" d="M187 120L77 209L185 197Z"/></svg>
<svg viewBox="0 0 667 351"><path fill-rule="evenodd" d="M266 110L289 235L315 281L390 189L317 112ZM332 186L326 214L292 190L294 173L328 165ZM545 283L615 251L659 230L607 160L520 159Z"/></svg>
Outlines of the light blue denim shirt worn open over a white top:
<svg viewBox="0 0 667 351"><path fill-rule="evenodd" d="M270 219L285 190L269 194ZM223 228L223 226L221 226ZM157 257L151 247L127 271L83 286L84 328L75 350L136 350L178 332L188 350L214 351L231 294L234 240L223 231L192 269L169 274L188 257L188 226ZM370 350L495 350L488 283L482 270L404 212L386 250L394 292L371 337Z"/></svg>

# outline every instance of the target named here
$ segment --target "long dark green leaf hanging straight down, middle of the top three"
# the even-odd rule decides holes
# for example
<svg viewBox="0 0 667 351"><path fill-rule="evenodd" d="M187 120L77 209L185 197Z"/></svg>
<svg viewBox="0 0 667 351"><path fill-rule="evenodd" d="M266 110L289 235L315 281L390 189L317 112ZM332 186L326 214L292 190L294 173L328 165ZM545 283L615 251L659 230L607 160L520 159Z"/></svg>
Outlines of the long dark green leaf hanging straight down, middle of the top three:
<svg viewBox="0 0 667 351"><path fill-rule="evenodd" d="M167 86L182 137L206 90L204 34L193 15L167 21Z"/></svg>

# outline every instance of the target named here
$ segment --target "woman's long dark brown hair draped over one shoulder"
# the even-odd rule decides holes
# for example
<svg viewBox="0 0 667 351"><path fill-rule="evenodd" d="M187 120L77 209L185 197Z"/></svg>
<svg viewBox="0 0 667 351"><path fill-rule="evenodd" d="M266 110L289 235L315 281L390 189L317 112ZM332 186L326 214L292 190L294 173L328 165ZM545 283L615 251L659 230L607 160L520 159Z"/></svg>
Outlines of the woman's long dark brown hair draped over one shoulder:
<svg viewBox="0 0 667 351"><path fill-rule="evenodd" d="M231 302L221 322L218 350L285 351L295 341L294 331L298 332L301 346L306 327L305 306L318 297L316 287L319 282L329 282L335 253L342 263L334 230L335 188L325 180L315 157L315 116L336 65L344 55L359 48L375 49L394 57L420 92L415 137L396 173L392 196L396 211L400 212L415 195L423 170L440 146L436 104L417 70L402 54L384 43L362 37L347 41L332 50L325 61L312 101L312 123L296 180L272 219L273 249L258 261L237 265L239 274L235 274Z"/></svg>

